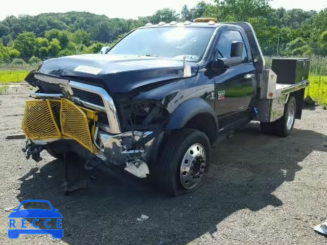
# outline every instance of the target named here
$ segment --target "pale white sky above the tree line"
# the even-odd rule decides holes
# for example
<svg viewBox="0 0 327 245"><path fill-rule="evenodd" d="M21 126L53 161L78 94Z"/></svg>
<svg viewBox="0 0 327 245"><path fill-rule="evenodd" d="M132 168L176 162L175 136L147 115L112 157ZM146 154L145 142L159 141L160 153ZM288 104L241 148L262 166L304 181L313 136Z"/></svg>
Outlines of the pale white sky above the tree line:
<svg viewBox="0 0 327 245"><path fill-rule="evenodd" d="M110 18L136 18L137 16L149 16L161 8L175 9L180 12L183 5L192 8L200 0L10 0L0 8L0 20L9 15L29 14L37 15L48 12L88 11L96 14L104 14ZM211 0L205 0L210 3ZM304 10L321 10L327 7L326 0L273 0L273 8L284 7L286 9L300 8Z"/></svg>

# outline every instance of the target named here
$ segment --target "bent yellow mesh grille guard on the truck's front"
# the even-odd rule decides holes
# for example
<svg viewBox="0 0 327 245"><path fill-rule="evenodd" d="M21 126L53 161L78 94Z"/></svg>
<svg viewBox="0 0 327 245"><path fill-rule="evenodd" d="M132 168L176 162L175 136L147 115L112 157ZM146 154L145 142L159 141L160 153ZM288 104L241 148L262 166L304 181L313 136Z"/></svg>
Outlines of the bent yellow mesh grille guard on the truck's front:
<svg viewBox="0 0 327 245"><path fill-rule="evenodd" d="M71 138L96 154L93 143L97 111L67 99L28 100L21 128L28 139Z"/></svg>

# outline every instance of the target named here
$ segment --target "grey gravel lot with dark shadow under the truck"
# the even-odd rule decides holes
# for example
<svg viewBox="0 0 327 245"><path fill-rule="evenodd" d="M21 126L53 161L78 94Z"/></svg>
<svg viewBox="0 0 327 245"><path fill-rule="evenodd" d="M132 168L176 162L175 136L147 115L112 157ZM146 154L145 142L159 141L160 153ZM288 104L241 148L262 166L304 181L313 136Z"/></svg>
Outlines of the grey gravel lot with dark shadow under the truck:
<svg viewBox="0 0 327 245"><path fill-rule="evenodd" d="M26 91L25 91L26 92ZM313 226L327 219L327 111L304 110L288 138L250 124L215 146L202 189L170 198L143 181L97 174L90 190L65 197L62 163L26 160L20 133L27 94L0 95L1 244L327 244ZM20 201L49 200L64 237L7 237ZM142 214L149 219L138 221ZM31 225L31 224L28 224Z"/></svg>

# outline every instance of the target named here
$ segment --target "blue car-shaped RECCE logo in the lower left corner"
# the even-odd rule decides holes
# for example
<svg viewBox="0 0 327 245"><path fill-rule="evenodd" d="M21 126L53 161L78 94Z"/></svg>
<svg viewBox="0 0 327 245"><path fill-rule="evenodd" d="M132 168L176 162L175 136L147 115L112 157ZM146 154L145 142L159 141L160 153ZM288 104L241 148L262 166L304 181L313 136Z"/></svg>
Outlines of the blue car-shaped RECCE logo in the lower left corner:
<svg viewBox="0 0 327 245"><path fill-rule="evenodd" d="M21 205L24 203L48 203L50 209L22 209L19 210ZM62 215L58 212L58 209L52 207L51 203L46 200L25 200L22 201L18 208L13 209L13 212L9 214L9 229L8 237L11 239L16 239L19 234L51 234L53 238L60 239L63 237L63 230L61 227ZM15 218L21 218L21 224L16 223ZM38 218L46 218L44 220L44 227L47 229L27 229L27 219L33 218L32 226L38 228L40 225L40 220ZM51 219L56 219L56 228L50 225ZM20 226L21 225L21 226ZM21 228L21 229L16 229ZM48 229L49 228L49 229Z"/></svg>

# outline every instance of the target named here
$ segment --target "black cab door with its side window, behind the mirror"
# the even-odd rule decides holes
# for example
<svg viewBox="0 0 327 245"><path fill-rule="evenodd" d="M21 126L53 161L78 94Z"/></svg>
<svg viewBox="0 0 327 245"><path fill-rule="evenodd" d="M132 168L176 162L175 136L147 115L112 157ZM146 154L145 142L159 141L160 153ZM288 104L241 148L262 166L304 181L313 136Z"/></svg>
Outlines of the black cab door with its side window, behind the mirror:
<svg viewBox="0 0 327 245"><path fill-rule="evenodd" d="M255 68L243 31L238 28L223 29L218 36L215 55L218 58L229 58L233 41L243 42L241 64L221 68L214 75L215 111L218 118L224 118L223 124L242 118L241 112L249 109L254 94Z"/></svg>

